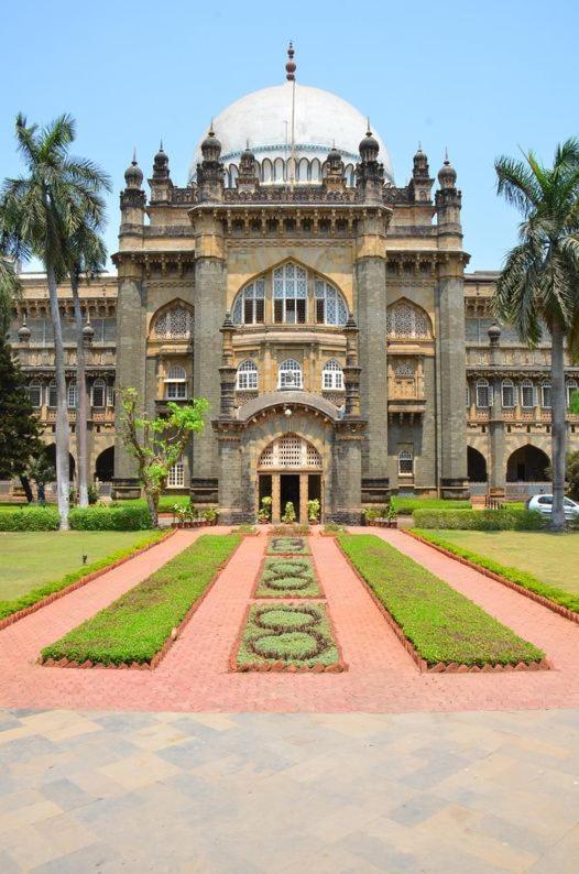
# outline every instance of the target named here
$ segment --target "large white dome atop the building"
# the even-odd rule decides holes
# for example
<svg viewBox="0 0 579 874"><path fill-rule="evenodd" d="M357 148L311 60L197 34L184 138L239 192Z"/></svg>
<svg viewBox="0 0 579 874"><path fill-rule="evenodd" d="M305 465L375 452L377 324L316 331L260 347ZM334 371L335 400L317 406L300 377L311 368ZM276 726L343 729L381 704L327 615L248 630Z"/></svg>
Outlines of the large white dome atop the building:
<svg viewBox="0 0 579 874"><path fill-rule="evenodd" d="M292 83L261 88L241 97L214 119L214 131L221 143L221 161L226 166L238 164L249 142L258 162L290 157L292 139ZM341 97L320 88L295 84L295 157L324 162L332 145L341 153L345 164L359 160L358 146L365 135L368 121ZM392 181L389 153L380 136L379 161L385 176ZM190 176L195 177L201 161L201 142L197 144Z"/></svg>

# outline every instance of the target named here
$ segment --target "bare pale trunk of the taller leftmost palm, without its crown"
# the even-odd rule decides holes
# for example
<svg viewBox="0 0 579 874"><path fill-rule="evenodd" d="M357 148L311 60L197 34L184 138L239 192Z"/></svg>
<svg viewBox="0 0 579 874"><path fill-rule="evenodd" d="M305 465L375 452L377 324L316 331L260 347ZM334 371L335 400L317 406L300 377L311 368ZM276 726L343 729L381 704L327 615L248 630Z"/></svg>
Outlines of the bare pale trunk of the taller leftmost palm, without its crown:
<svg viewBox="0 0 579 874"><path fill-rule="evenodd" d="M69 466L68 466L68 411L66 408L66 376L64 370L63 328L54 267L46 264L46 278L51 299L51 318L54 330L54 365L56 380L56 491L58 495L58 515L61 531L68 531L69 509Z"/></svg>

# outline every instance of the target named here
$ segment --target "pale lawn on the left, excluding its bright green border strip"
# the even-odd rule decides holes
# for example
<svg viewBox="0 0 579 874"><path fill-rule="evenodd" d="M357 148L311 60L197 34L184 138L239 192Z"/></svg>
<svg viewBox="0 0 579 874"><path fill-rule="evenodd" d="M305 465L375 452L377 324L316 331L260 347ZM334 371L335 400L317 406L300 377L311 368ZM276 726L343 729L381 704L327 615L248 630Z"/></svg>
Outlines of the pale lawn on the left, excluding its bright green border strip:
<svg viewBox="0 0 579 874"><path fill-rule="evenodd" d="M68 531L0 532L0 608L2 602L61 580L108 556L133 549L162 532ZM83 555L87 556L86 567ZM1 618L1 612L0 612Z"/></svg>

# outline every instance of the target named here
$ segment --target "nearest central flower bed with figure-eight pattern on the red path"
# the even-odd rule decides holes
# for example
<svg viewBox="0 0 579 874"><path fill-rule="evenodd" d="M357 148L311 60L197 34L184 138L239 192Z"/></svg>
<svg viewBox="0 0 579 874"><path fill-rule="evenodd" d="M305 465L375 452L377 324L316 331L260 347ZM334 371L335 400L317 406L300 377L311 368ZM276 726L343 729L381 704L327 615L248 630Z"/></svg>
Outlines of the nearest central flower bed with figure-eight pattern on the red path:
<svg viewBox="0 0 579 874"><path fill-rule="evenodd" d="M237 664L313 667L339 662L325 604L253 604L243 630Z"/></svg>

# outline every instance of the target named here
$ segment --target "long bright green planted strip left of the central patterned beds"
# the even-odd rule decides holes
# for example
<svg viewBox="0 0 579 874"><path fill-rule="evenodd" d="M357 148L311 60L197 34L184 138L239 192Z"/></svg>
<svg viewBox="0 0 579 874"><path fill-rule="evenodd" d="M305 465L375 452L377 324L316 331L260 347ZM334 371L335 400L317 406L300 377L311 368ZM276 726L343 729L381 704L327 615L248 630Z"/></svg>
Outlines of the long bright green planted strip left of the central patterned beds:
<svg viewBox="0 0 579 874"><path fill-rule="evenodd" d="M199 537L146 580L42 651L42 657L105 665L150 663L240 543Z"/></svg>

